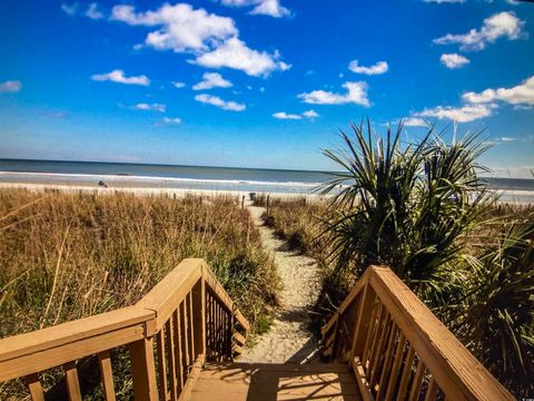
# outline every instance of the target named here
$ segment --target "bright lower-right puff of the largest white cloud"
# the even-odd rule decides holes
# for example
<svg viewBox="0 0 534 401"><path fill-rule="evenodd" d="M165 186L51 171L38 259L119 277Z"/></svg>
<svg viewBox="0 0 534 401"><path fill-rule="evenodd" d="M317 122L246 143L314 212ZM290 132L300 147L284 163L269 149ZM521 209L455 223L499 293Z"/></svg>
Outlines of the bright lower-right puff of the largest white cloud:
<svg viewBox="0 0 534 401"><path fill-rule="evenodd" d="M256 51L248 48L239 38L230 38L217 49L200 55L194 63L206 68L233 68L253 77L266 77L275 70L290 68L284 61L277 61L278 55Z"/></svg>

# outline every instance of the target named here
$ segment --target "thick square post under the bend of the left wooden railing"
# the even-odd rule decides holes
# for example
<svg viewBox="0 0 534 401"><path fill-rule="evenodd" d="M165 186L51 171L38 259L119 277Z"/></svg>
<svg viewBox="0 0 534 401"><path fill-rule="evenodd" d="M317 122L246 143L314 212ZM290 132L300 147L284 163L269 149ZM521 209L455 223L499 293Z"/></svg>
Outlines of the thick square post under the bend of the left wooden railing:
<svg viewBox="0 0 534 401"><path fill-rule="evenodd" d="M156 366L154 363L152 338L138 340L128 344L134 379L134 398L152 401L158 399Z"/></svg>

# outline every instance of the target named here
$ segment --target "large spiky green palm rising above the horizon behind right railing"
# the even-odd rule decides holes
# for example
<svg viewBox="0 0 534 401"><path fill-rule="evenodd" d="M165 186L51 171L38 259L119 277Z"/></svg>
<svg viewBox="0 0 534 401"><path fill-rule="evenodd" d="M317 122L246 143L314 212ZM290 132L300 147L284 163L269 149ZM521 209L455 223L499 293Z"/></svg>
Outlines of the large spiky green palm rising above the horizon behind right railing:
<svg viewBox="0 0 534 401"><path fill-rule="evenodd" d="M369 121L352 125L354 138L342 131L346 149L324 151L343 169L320 188L334 195L324 235L336 274L386 264L438 307L461 293L463 273L449 267L484 209L476 158L486 147L477 135L446 145L433 126L403 145L402 129L383 140Z"/></svg>

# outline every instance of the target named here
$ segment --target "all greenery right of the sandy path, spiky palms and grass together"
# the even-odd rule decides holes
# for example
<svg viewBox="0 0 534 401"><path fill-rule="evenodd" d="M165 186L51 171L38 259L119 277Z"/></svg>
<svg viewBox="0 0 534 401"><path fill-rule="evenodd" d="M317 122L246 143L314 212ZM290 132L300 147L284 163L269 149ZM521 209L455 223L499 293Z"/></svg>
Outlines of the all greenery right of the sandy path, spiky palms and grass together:
<svg viewBox="0 0 534 401"><path fill-rule="evenodd" d="M386 264L508 389L532 397L533 211L486 192L477 135L446 144L431 127L405 145L402 126L384 139L370 125L352 130L343 149L325 150L342 170L320 188L329 200L297 217L305 206L274 202L266 217L312 238L303 248L322 262L318 306L339 304L368 265Z"/></svg>

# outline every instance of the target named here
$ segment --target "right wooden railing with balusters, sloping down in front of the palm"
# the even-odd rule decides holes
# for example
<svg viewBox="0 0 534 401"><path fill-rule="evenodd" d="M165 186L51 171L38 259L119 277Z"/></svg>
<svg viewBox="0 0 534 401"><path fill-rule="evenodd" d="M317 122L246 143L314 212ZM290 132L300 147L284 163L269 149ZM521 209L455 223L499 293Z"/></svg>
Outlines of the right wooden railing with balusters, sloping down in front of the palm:
<svg viewBox="0 0 534 401"><path fill-rule="evenodd" d="M323 335L325 354L353 366L368 399L431 400L438 392L451 400L514 399L387 267L366 270Z"/></svg>

